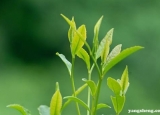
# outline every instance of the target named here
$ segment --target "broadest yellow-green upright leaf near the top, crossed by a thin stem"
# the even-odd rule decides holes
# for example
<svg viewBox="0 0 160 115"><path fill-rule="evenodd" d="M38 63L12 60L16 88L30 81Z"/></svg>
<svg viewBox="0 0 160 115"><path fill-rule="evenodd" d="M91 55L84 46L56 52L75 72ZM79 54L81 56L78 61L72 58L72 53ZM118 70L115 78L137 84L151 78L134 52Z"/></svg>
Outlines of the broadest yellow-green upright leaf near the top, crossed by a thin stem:
<svg viewBox="0 0 160 115"><path fill-rule="evenodd" d="M78 31L78 33L81 34L82 38L80 38L80 36L77 33L74 33L74 38L71 43L71 50L72 50L73 56L76 55L77 52L83 47L84 41L86 40L86 27L85 27L85 25L81 25L77 31Z"/></svg>

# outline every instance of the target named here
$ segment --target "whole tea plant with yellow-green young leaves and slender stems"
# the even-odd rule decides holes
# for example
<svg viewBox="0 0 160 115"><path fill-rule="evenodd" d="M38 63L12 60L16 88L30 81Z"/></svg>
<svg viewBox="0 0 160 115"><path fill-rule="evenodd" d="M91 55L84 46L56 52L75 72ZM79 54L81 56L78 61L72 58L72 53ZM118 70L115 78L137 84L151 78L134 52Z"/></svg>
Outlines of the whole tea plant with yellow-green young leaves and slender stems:
<svg viewBox="0 0 160 115"><path fill-rule="evenodd" d="M99 95L102 81L106 73L121 60L131 55L132 53L142 49L141 46L134 46L121 51L122 44L115 46L110 51L110 45L112 43L113 30L107 32L105 37L99 42L98 34L103 16L98 20L94 27L94 38L92 48L86 41L86 27L81 25L76 27L74 18L69 20L66 16L61 14L65 21L69 24L68 40L71 50L71 62L66 59L63 54L56 53L57 56L65 63L72 83L73 94L71 96L63 97L59 89L58 82L56 83L56 91L52 96L50 107L41 105L38 110L40 115L61 115L63 110L68 106L71 101L75 102L77 109L77 115L81 115L79 105L82 105L87 112L87 115L96 115L97 110L101 108L111 108L106 103L99 103ZM86 46L84 49L83 46ZM75 58L81 58L86 63L86 69L88 71L88 77L83 78L84 85L76 89L74 81L74 65ZM100 58L100 59L99 59ZM97 61L100 60L100 63ZM92 80L93 69L96 68L98 72L98 81ZM119 115L122 111L125 103L125 94L129 87L128 67L126 66L120 79L115 80L112 77L108 77L106 84L113 91L114 95L111 96L111 101L116 115ZM78 95L88 87L87 103L78 98ZM62 100L66 100L62 103ZM22 113L22 115L31 115L30 112L18 104L11 104L7 107L15 108ZM72 113L70 113L72 115Z"/></svg>

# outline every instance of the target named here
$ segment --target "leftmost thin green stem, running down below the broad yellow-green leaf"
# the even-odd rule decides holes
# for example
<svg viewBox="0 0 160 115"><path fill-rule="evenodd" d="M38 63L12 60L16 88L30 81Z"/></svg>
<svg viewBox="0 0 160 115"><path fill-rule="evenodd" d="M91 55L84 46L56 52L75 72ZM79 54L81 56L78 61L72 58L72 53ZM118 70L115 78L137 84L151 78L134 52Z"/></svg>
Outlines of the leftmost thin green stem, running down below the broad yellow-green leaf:
<svg viewBox="0 0 160 115"><path fill-rule="evenodd" d="M72 82L73 96L76 97L76 90L75 90L75 84L74 84L74 63L75 63L75 58L72 57L71 82ZM81 115L79 105L77 102L76 102L76 108L77 108L78 115Z"/></svg>

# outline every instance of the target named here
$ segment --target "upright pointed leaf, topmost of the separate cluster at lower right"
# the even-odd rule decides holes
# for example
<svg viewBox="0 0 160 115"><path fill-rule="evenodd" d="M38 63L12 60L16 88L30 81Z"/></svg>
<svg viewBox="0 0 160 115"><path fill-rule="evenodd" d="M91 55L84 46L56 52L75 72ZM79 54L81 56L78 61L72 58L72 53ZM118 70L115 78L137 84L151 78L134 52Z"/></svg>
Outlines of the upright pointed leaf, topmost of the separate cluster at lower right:
<svg viewBox="0 0 160 115"><path fill-rule="evenodd" d="M121 80L120 80L120 85L122 87L122 93L125 95L128 86L129 86L129 77L128 77L128 67L126 66L125 70L123 71Z"/></svg>

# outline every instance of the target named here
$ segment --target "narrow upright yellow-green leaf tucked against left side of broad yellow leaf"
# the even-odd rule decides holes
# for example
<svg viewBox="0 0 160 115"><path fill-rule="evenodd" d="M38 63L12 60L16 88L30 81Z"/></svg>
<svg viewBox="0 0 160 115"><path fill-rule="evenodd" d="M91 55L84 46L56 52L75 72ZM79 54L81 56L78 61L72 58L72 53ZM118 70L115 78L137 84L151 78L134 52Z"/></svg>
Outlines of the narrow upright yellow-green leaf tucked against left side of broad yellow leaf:
<svg viewBox="0 0 160 115"><path fill-rule="evenodd" d="M73 40L73 37L74 37L74 33L76 30L76 23L74 22L74 18L72 18L72 24L73 24L73 28L70 26L69 30L68 30L68 39L69 39L69 42L72 43L72 40Z"/></svg>

